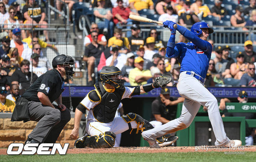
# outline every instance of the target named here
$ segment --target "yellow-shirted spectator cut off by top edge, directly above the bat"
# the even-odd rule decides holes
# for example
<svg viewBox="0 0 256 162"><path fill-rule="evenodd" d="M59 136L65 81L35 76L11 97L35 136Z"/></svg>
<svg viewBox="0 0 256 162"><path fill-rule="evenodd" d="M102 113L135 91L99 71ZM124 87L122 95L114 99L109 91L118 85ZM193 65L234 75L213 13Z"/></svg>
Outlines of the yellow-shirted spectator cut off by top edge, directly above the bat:
<svg viewBox="0 0 256 162"><path fill-rule="evenodd" d="M129 0L131 10L154 9L154 2L152 0Z"/></svg>

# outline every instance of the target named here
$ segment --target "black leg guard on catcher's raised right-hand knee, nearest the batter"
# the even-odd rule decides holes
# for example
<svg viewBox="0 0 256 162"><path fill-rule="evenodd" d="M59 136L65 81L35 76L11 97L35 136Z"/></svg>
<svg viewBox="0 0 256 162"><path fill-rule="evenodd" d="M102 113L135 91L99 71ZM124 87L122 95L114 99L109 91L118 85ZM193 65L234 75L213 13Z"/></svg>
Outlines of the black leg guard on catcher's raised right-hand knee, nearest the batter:
<svg viewBox="0 0 256 162"><path fill-rule="evenodd" d="M139 132L139 130L143 132L144 130L147 131L154 128L153 125L151 125L147 120L143 119L141 116L133 112L126 114L126 116L122 116L122 118L126 121L126 123L128 123L128 125L131 121L135 121L137 123L136 134ZM141 128L139 128L139 125L141 125ZM129 128L131 128L130 125Z"/></svg>

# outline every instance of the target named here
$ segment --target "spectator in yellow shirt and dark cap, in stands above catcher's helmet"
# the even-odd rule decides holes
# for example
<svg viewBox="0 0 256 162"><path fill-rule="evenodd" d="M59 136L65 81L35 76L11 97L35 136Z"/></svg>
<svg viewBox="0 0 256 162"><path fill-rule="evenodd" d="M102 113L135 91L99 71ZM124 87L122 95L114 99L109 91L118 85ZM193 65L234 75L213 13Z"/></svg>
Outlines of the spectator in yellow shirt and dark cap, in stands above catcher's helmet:
<svg viewBox="0 0 256 162"><path fill-rule="evenodd" d="M114 29L114 37L109 38L108 40L108 47L112 46L113 44L115 44L115 40L122 40L123 42L123 46L121 48L124 48L125 50L120 51L119 53L128 53L129 52L129 40L127 37L122 37L122 29L119 28L115 28Z"/></svg>

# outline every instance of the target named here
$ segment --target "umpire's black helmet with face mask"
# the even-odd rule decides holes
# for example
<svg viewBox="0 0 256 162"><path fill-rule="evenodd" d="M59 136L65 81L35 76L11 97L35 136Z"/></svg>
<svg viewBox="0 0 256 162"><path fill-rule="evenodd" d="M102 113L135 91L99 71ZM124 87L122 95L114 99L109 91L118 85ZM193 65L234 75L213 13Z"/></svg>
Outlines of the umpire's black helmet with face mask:
<svg viewBox="0 0 256 162"><path fill-rule="evenodd" d="M75 73L76 68L74 66L74 59L68 55L58 55L52 60L52 67L56 67L57 65L69 65L65 67L66 75L69 76L69 79L73 80L73 75Z"/></svg>

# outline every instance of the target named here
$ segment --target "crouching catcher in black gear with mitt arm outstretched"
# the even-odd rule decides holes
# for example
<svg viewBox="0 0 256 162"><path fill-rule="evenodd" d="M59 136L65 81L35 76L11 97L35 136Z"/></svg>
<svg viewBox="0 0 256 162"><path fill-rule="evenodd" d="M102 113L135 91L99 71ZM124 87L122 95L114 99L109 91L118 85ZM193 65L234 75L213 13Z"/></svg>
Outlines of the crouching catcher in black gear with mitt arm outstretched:
<svg viewBox="0 0 256 162"><path fill-rule="evenodd" d="M123 98L132 98L134 95L143 94L159 87L158 77L154 83L141 85L139 87L124 87L124 79L121 77L121 70L115 66L104 66L100 72L101 82L94 85L92 90L76 107L74 118L74 129L70 134L71 138L76 139L78 136L79 124L82 114L87 109L86 132L89 134L78 138L74 147L93 147L109 148L115 145L116 134L122 133L128 129L148 130L154 128L147 120L132 112L125 116L115 117L117 107ZM168 83L170 80L167 81ZM165 83L167 85L168 83ZM156 141L157 140L157 141ZM165 139L161 136L156 140L149 141L151 148L160 148L159 143L164 143ZM171 142L169 141L169 144Z"/></svg>

